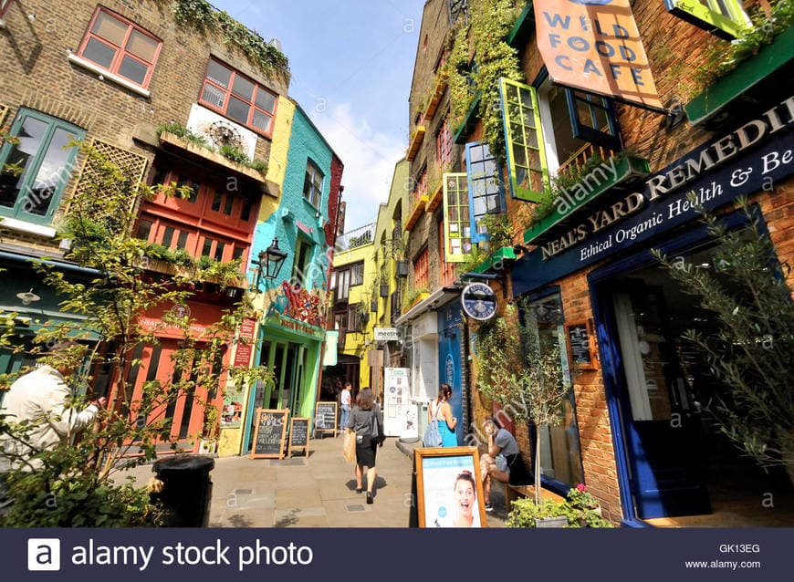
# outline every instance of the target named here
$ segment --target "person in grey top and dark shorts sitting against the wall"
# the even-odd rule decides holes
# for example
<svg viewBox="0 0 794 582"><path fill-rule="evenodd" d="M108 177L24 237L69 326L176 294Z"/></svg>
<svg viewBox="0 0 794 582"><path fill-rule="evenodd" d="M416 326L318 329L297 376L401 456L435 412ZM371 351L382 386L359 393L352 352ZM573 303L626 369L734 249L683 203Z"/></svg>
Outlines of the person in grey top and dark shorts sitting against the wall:
<svg viewBox="0 0 794 582"><path fill-rule="evenodd" d="M488 452L480 457L480 476L483 480L483 497L486 511L493 511L491 506L491 481L511 485L528 485L532 483L532 475L524 464L516 438L502 427L495 418L486 420Z"/></svg>

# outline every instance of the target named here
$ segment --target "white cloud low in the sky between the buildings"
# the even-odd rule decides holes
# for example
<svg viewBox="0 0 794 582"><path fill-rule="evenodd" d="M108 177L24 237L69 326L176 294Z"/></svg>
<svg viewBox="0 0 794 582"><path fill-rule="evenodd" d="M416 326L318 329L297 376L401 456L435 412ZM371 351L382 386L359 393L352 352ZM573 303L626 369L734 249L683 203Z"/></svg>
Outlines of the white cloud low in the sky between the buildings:
<svg viewBox="0 0 794 582"><path fill-rule="evenodd" d="M345 230L374 222L378 204L389 198L394 164L405 155L407 138L373 130L367 118L354 113L347 102L311 110L309 115L345 166Z"/></svg>

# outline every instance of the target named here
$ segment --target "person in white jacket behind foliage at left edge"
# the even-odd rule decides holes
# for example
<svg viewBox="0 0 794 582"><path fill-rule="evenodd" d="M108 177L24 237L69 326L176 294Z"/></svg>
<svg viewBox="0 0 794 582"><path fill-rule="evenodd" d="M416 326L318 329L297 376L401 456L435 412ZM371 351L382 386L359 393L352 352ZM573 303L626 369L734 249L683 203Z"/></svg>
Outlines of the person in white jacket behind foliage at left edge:
<svg viewBox="0 0 794 582"><path fill-rule="evenodd" d="M51 353L62 354L75 346L78 346L75 342L61 342ZM33 455L71 442L79 431L94 421L105 405L106 399L102 397L90 402L82 411L71 407L74 393L66 378L74 373L76 364L54 365L57 369L43 365L19 377L5 394L0 416L5 417L12 429L22 428L24 435L15 438L0 434L0 473L16 468L36 470L41 462L32 459Z"/></svg>

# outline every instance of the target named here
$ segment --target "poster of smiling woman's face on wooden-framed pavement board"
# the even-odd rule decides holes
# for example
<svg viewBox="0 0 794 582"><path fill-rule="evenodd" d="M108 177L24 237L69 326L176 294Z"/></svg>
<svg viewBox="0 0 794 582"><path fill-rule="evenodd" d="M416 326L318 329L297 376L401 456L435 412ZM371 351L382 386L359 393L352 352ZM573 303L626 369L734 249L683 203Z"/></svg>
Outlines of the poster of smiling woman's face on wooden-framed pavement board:
<svg viewBox="0 0 794 582"><path fill-rule="evenodd" d="M482 527L472 454L423 457L425 527Z"/></svg>

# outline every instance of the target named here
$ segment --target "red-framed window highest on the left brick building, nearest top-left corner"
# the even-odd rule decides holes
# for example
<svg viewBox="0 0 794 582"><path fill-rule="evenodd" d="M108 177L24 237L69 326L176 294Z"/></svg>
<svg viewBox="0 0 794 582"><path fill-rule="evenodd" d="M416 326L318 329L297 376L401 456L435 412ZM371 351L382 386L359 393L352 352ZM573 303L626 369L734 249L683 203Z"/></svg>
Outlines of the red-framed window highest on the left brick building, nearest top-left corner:
<svg viewBox="0 0 794 582"><path fill-rule="evenodd" d="M98 7L78 56L146 88L162 41L126 18Z"/></svg>

